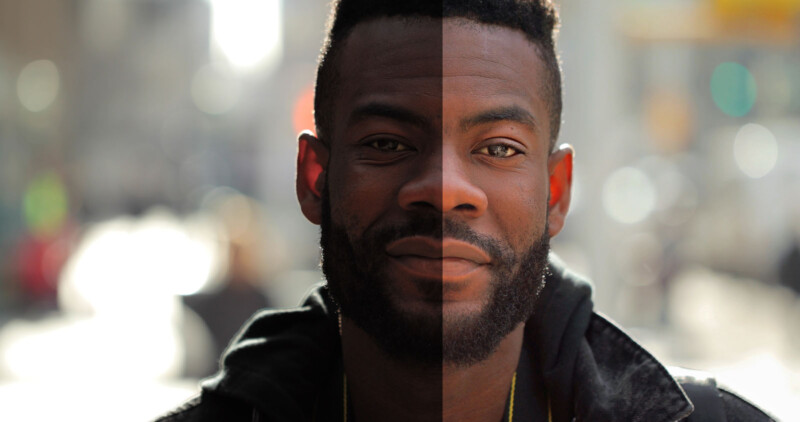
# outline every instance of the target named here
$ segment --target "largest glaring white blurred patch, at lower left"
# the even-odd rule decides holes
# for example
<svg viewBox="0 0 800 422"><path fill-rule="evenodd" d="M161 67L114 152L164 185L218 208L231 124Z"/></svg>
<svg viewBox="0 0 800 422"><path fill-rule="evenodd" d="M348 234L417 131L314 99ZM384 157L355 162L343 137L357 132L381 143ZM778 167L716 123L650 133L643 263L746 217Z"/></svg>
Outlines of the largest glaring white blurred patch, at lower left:
<svg viewBox="0 0 800 422"><path fill-rule="evenodd" d="M91 228L59 281L65 316L4 326L0 373L25 380L177 375L184 351L176 295L218 275L226 251L217 232L209 220L164 210Z"/></svg>

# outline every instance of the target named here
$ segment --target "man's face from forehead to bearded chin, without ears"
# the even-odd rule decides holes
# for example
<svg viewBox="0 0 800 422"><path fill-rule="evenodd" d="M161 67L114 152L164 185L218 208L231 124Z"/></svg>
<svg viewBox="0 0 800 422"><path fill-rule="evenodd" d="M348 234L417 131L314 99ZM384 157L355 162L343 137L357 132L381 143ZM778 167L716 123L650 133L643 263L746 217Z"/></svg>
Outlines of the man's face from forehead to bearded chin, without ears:
<svg viewBox="0 0 800 422"><path fill-rule="evenodd" d="M546 265L544 65L518 31L445 19L356 26L323 193L323 270L390 354L485 359ZM557 231L557 230L556 230Z"/></svg>

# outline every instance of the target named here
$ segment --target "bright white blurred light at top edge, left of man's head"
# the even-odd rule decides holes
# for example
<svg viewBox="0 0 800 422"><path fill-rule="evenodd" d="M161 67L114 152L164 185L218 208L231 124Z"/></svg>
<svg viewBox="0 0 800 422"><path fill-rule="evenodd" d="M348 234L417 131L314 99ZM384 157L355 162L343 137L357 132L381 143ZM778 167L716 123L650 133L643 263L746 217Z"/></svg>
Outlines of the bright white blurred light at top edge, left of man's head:
<svg viewBox="0 0 800 422"><path fill-rule="evenodd" d="M212 0L214 43L238 68L267 67L281 54L280 0Z"/></svg>

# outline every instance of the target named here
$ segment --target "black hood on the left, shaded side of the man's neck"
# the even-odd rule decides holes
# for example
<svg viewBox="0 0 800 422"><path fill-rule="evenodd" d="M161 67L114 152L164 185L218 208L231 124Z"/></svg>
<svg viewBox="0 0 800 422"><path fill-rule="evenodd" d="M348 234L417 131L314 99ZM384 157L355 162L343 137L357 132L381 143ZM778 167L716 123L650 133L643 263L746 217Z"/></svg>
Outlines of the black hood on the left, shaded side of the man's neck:
<svg viewBox="0 0 800 422"><path fill-rule="evenodd" d="M314 406L308 401L341 361L334 309L320 284L298 308L255 314L203 390L249 403L267 420L310 420Z"/></svg>

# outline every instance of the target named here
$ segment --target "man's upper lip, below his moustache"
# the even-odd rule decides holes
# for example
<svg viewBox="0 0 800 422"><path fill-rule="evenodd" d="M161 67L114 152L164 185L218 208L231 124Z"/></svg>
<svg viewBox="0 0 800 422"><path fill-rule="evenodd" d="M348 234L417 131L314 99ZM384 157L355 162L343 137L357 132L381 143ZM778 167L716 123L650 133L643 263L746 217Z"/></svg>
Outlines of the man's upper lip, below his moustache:
<svg viewBox="0 0 800 422"><path fill-rule="evenodd" d="M387 245L386 253L394 258L417 257L442 262L464 260L474 265L491 262L489 255L481 248L452 238L439 240L427 236L404 237Z"/></svg>

